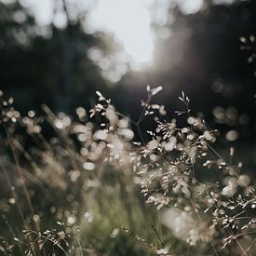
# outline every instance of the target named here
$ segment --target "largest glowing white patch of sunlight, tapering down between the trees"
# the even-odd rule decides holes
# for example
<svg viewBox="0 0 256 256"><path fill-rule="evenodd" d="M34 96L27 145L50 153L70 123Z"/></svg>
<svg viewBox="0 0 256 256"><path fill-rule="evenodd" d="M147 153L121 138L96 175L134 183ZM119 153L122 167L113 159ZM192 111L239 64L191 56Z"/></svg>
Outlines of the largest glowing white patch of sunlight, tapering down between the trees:
<svg viewBox="0 0 256 256"><path fill-rule="evenodd" d="M88 17L90 30L104 30L115 35L135 68L149 65L153 59L154 43L150 31L150 12L146 6L150 3L152 1L99 1Z"/></svg>

